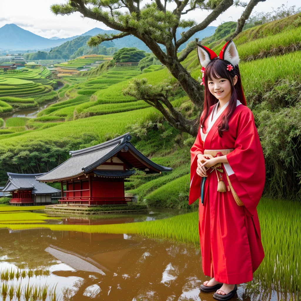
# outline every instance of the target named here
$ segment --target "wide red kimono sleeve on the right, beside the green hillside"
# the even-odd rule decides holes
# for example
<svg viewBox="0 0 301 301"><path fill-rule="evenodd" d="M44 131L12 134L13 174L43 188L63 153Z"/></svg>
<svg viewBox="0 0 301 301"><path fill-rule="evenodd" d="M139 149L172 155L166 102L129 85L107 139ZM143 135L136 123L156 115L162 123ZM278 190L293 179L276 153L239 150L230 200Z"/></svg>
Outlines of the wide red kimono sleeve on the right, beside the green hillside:
<svg viewBox="0 0 301 301"><path fill-rule="evenodd" d="M231 185L253 216L262 196L265 184L265 162L254 116L244 107L237 118L237 138L234 151L227 154L228 163L233 170L229 175Z"/></svg>

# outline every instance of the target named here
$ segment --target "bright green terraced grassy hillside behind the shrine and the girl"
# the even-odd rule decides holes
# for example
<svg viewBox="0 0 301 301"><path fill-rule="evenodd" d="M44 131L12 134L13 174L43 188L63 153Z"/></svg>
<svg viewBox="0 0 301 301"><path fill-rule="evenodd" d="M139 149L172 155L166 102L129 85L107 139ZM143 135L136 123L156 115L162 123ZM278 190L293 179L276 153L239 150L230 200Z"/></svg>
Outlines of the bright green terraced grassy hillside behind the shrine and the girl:
<svg viewBox="0 0 301 301"><path fill-rule="evenodd" d="M247 103L253 110L265 154L265 193L272 197L293 198L300 189L301 159L297 154L301 151L298 92L301 52L292 46L301 43L299 19L300 15L295 15L257 26L235 39L242 58L240 71ZM254 40L243 41L244 36ZM217 43L215 49L218 51L222 45L223 41ZM285 51L275 51L280 46ZM200 76L195 51L182 64L195 79ZM160 65L141 73L139 68L102 64L80 76L66 78L69 84L60 91L59 102L40 112L37 118L27 120L29 130L0 135L0 163L5 171L28 172L30 161L31 170L46 171L56 166L58 160L67 159L66 153L60 157L66 147L74 150L91 146L131 131L132 141L139 150L174 170L158 177L134 176L126 184L128 193L152 205L186 206L185 183L189 178L189 149L194 138L173 129L145 102L123 95L132 78L147 78L149 84L156 85L169 76L168 70ZM189 118L197 113L185 93L178 93L172 101ZM8 106L10 103L0 102L3 110L8 110ZM16 126L19 127L22 126ZM36 149L34 144L51 152L52 160L48 154L43 157L39 149L32 152ZM29 158L24 155L27 152Z"/></svg>

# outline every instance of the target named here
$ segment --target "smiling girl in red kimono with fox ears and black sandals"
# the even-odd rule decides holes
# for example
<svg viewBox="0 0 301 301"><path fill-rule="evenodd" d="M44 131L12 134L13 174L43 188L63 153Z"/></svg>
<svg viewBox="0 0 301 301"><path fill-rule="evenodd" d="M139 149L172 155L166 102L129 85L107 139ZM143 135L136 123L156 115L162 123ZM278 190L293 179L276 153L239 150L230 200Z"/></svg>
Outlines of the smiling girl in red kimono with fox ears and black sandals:
<svg viewBox="0 0 301 301"><path fill-rule="evenodd" d="M202 268L212 279L200 289L228 300L251 281L264 257L256 206L265 163L252 111L247 107L232 41L219 57L198 45L205 86L200 128L191 147L189 204L199 198Z"/></svg>

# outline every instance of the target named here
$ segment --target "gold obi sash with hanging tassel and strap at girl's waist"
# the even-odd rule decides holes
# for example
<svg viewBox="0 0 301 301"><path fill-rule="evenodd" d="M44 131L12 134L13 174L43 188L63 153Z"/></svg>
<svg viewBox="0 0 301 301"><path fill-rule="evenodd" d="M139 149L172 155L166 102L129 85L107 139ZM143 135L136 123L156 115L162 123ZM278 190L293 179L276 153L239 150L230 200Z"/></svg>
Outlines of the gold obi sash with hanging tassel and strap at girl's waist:
<svg viewBox="0 0 301 301"><path fill-rule="evenodd" d="M231 151L234 151L234 148L229 148L226 150L204 150L204 155L208 155L208 157L210 159L212 159L213 157L219 157L219 156L224 156L226 154L229 154L229 153L231 153ZM222 173L224 172L224 170L222 169L222 163L217 163L214 166L209 167L209 168L212 168L212 170L210 172L213 172L213 170L215 170L215 172L216 172L217 180L218 180L217 191L225 192L226 185L222 180ZM220 176L218 175L217 172L220 173ZM230 179L229 179L226 169L225 169L225 174L226 174L227 182L228 182L228 185L227 185L228 191L231 190L234 200L238 206L244 206L244 203L240 200L240 198L238 197L237 193L235 192L233 186L231 185L231 182L230 182Z"/></svg>

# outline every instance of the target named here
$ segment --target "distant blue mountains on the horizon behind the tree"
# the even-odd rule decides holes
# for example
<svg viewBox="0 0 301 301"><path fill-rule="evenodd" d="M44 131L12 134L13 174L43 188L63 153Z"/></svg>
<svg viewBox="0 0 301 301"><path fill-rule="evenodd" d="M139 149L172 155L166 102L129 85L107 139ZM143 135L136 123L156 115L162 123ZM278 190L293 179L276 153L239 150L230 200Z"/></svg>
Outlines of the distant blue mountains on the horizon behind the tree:
<svg viewBox="0 0 301 301"><path fill-rule="evenodd" d="M211 36L215 32L216 26L208 26L204 30L195 33L190 40L194 38L203 39L204 37ZM176 37L181 37L181 32L185 31L185 28L180 28ZM25 30L15 24L6 24L0 28L0 50L3 51L38 51L38 50L50 50L50 48L62 45L67 41L71 41L79 36L95 36L97 34L110 34L119 33L117 30L105 30L101 28L93 28L81 35L73 36L70 38L60 39L52 37L50 39L38 36L28 30ZM126 36L120 39L114 40L117 48L123 47L137 47L138 49L149 51L149 48L135 36ZM182 46L182 48L185 45Z"/></svg>

